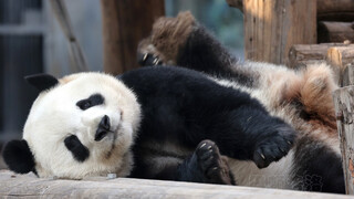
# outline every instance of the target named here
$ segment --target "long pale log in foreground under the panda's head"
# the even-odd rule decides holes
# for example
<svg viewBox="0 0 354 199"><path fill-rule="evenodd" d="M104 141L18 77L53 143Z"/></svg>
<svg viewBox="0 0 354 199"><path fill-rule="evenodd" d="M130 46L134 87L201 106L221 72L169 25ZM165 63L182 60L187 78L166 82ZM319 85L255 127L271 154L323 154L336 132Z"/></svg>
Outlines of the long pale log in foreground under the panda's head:
<svg viewBox="0 0 354 199"><path fill-rule="evenodd" d="M348 199L344 195L146 179L62 180L0 171L0 198Z"/></svg>

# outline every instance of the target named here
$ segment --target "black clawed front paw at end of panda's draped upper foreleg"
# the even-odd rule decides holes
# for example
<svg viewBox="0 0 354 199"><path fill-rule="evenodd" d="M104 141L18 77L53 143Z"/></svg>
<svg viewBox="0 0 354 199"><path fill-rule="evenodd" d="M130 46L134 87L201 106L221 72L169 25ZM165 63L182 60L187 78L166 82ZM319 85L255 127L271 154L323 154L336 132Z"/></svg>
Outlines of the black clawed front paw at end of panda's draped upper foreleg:
<svg viewBox="0 0 354 199"><path fill-rule="evenodd" d="M267 133L266 137L256 145L253 161L258 168L266 168L271 163L287 156L295 140L295 130L284 126Z"/></svg>

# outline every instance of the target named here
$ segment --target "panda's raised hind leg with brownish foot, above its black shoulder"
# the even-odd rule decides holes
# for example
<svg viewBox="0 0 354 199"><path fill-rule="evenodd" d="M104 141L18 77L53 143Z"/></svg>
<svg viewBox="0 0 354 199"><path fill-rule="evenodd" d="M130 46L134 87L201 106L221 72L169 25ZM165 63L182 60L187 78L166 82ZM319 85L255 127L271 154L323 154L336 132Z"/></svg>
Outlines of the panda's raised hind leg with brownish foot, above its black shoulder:
<svg viewBox="0 0 354 199"><path fill-rule="evenodd" d="M190 12L176 18L159 18L150 36L140 41L137 61L143 66L178 65L207 74L235 73L238 59L200 25ZM238 78L247 81L249 74L239 72Z"/></svg>

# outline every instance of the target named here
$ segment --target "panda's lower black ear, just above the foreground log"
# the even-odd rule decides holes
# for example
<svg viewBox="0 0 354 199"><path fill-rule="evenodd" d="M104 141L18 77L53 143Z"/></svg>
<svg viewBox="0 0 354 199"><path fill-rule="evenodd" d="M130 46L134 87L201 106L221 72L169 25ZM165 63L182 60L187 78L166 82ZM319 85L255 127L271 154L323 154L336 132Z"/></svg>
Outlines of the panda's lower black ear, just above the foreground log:
<svg viewBox="0 0 354 199"><path fill-rule="evenodd" d="M24 139L9 142L3 148L2 157L9 169L18 174L34 170L34 157Z"/></svg>

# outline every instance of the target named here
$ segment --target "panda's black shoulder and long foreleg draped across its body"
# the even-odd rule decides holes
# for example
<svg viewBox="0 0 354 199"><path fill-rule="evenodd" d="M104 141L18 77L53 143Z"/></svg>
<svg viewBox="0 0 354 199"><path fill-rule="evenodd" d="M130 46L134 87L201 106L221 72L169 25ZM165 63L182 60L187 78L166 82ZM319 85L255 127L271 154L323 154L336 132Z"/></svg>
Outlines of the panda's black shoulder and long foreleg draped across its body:
<svg viewBox="0 0 354 199"><path fill-rule="evenodd" d="M218 85L205 75L180 67L145 67L119 77L137 95L143 121L136 140L133 176L147 177L140 146L152 138L195 148L215 142L222 155L267 167L287 155L295 132L272 117L248 94ZM263 158L259 158L263 156ZM150 177L154 178L154 177Z"/></svg>

